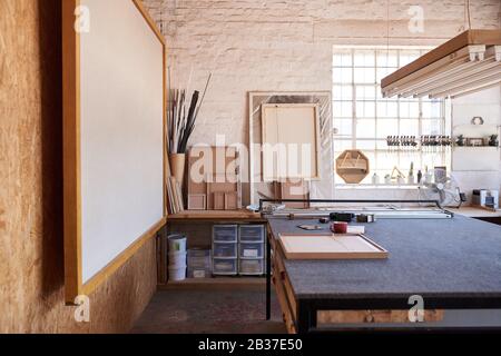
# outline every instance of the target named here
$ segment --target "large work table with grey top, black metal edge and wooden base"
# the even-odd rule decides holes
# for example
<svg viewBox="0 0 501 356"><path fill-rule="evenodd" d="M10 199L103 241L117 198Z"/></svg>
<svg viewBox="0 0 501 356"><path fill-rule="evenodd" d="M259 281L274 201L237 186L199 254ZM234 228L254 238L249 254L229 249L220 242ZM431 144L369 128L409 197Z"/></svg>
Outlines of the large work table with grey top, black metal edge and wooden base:
<svg viewBox="0 0 501 356"><path fill-rule="evenodd" d="M365 326L393 325L407 318L414 295L423 297L431 320L415 327L446 325L449 309L501 308L501 226L458 215L381 219L365 225L366 236L389 250L387 259L287 260L279 234L305 234L297 226L318 221L268 222L273 280L289 332L333 330L360 317ZM325 234L328 226L323 226L307 234Z"/></svg>

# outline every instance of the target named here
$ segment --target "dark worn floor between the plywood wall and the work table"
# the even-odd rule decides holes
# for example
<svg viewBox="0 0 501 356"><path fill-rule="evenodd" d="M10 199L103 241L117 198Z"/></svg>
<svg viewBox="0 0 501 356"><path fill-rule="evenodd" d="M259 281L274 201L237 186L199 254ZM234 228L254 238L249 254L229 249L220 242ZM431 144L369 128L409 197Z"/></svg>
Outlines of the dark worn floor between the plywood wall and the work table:
<svg viewBox="0 0 501 356"><path fill-rule="evenodd" d="M265 320L265 293L255 287L212 290L160 290L132 334L284 334L282 312L273 296L272 320Z"/></svg>

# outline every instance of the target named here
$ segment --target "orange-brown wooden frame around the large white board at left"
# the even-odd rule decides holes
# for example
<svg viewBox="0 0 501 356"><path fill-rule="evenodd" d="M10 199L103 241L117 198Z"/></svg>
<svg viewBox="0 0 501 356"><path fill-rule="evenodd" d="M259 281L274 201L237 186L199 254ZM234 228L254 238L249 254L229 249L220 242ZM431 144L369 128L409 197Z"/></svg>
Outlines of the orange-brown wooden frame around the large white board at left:
<svg viewBox="0 0 501 356"><path fill-rule="evenodd" d="M164 217L139 236L128 248L121 251L105 268L87 283L82 283L81 260L81 181L80 181L80 36L75 31L75 10L80 0L65 0L62 6L62 79L63 79L63 234L65 234L65 299L75 304L80 295L90 295L100 284L131 258L148 240L154 238L167 222L166 177L168 160L166 151L166 107L167 107L167 46L166 41L144 8L140 0L130 0L145 18L164 48Z"/></svg>

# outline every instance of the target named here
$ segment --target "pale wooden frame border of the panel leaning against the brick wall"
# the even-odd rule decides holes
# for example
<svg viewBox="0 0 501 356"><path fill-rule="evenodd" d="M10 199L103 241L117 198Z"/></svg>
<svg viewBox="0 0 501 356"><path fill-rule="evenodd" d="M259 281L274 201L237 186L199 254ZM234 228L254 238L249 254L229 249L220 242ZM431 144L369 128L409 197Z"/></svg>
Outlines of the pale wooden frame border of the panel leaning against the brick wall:
<svg viewBox="0 0 501 356"><path fill-rule="evenodd" d="M264 103L261 107L262 113L261 113L261 120L262 120L262 145L266 145L266 144L271 144L271 145L276 145L276 144L281 144L281 142L271 142L269 138L266 136L267 132L267 127L269 125L268 119L266 117L266 110L268 108L276 108L276 109L297 109L297 108L311 108L314 111L314 136L315 136L315 142L312 144L312 147L315 149L314 152L314 157L315 157L315 168L314 171L312 170L312 176L311 177L278 177L273 180L281 180L281 179L305 179L305 180L314 180L314 179L320 179L321 178L321 129L320 129L320 115L318 115L318 103ZM296 127L292 128L293 130L301 130ZM277 131L279 129L277 128ZM286 131L284 129L284 131ZM287 157L288 159L288 157ZM265 166L266 166L266 160L265 160L265 155L264 155L264 149L263 149L263 158L262 158L262 175L263 175L263 180L264 181L269 181L269 177L265 176ZM277 172L274 172L274 175L276 175Z"/></svg>

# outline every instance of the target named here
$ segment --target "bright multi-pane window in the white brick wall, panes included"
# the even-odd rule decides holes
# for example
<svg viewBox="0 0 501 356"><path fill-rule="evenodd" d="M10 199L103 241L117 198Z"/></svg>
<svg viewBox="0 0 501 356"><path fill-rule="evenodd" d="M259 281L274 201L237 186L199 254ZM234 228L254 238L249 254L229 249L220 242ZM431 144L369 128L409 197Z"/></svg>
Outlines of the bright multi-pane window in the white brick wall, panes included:
<svg viewBox="0 0 501 356"><path fill-rule="evenodd" d="M381 93L381 80L410 63L429 48L334 47L333 120L334 152L360 149L371 161L371 172L362 184L371 185L377 174L381 184L394 167L406 174L411 162L418 170L450 166L448 149L395 149L389 136L448 136L450 109L444 100L389 98ZM335 185L344 181L335 176Z"/></svg>

